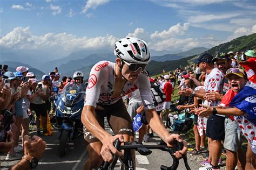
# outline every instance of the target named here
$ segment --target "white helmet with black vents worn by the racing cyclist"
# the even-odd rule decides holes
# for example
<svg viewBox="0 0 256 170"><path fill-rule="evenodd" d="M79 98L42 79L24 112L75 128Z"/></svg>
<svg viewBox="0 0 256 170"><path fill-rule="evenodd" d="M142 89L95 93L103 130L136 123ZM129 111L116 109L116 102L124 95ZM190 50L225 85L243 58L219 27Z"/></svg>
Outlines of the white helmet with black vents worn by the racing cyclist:
<svg viewBox="0 0 256 170"><path fill-rule="evenodd" d="M146 64L150 61L146 42L134 37L122 38L114 44L114 55L129 62Z"/></svg>

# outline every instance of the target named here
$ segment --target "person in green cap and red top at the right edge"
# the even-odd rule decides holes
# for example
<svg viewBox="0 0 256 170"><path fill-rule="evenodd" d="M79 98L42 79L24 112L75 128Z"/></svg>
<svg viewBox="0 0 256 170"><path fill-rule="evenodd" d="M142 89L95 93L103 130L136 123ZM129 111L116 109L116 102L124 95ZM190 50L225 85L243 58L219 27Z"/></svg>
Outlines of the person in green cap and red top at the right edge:
<svg viewBox="0 0 256 170"><path fill-rule="evenodd" d="M239 64L245 68L248 80L256 83L256 51L248 50L245 53L246 61L242 61Z"/></svg>

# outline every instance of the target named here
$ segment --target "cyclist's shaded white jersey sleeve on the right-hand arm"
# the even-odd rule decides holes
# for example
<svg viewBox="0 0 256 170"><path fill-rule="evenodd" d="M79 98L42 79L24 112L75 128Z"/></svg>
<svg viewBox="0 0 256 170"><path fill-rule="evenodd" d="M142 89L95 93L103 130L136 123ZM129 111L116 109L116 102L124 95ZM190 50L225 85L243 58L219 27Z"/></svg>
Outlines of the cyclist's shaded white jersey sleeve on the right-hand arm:
<svg viewBox="0 0 256 170"><path fill-rule="evenodd" d="M154 102L151 95L150 81L149 77L144 73L139 75L139 92L142 97L142 102L144 104L144 109L154 109Z"/></svg>

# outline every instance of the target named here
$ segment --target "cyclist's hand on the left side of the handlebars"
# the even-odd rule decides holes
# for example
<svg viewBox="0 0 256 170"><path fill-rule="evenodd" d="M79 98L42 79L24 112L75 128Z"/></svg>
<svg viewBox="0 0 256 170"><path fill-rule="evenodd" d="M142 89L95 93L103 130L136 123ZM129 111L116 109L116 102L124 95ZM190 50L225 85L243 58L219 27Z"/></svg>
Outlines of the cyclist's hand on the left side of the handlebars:
<svg viewBox="0 0 256 170"><path fill-rule="evenodd" d="M114 146L113 143L116 139L119 139L119 141L124 142L124 136L122 134L117 134L116 136L110 136L103 140L102 142L102 150L100 151L100 154L102 155L102 158L106 162L111 162L113 160L112 153L117 155L117 157L121 157L122 152L119 152Z"/></svg>

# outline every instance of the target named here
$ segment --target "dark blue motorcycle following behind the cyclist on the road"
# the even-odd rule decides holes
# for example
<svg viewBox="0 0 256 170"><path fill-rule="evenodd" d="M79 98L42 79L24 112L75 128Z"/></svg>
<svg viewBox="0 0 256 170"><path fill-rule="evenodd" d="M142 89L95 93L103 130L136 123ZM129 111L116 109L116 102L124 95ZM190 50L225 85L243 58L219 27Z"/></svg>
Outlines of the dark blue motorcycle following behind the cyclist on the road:
<svg viewBox="0 0 256 170"><path fill-rule="evenodd" d="M83 134L81 114L84 107L84 84L69 83L61 90L54 89L56 122L60 126L59 156L66 153L66 145L76 136ZM56 92L58 91L58 92Z"/></svg>

